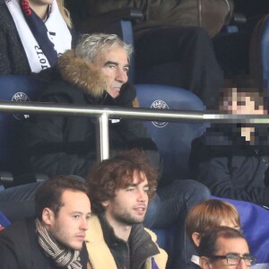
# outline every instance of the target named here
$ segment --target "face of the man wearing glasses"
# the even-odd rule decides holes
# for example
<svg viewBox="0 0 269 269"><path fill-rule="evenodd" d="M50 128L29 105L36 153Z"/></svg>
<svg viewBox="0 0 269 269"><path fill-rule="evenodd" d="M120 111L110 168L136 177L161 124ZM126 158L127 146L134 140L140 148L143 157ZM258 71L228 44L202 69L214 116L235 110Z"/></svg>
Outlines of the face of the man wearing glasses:
<svg viewBox="0 0 269 269"><path fill-rule="evenodd" d="M215 256L227 256L229 254L234 254L237 256L249 256L249 249L247 246L247 241L245 239L224 239L219 238L217 240L217 246L219 250L215 253ZM217 258L209 263L208 267L211 269L247 269L249 266L246 265L244 259L241 259L239 265L229 265L226 258Z"/></svg>

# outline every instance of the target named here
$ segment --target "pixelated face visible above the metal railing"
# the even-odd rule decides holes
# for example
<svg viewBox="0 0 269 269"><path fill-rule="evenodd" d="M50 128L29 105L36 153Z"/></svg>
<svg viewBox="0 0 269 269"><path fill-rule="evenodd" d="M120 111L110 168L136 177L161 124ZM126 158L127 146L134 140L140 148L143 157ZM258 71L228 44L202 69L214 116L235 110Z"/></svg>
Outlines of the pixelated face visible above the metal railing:
<svg viewBox="0 0 269 269"><path fill-rule="evenodd" d="M264 115L263 106L256 108L256 101L251 93L237 92L236 88L232 93L224 98L221 110L233 115Z"/></svg>

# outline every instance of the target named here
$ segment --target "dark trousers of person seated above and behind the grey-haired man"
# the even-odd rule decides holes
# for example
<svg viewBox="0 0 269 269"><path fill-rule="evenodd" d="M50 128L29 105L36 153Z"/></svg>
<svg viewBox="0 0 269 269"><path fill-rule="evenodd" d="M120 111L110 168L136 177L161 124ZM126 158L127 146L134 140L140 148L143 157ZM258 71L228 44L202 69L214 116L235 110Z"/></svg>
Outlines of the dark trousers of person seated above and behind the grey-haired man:
<svg viewBox="0 0 269 269"><path fill-rule="evenodd" d="M135 83L158 83L193 91L212 108L223 74L212 40L199 27L163 27L135 39Z"/></svg>

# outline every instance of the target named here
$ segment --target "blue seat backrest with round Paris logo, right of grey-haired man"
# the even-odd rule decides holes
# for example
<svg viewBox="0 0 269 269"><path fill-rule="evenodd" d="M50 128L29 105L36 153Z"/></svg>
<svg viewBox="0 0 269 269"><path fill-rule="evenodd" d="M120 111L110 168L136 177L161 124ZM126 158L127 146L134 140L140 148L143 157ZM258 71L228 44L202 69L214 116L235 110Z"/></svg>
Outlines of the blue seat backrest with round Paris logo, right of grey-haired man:
<svg viewBox="0 0 269 269"><path fill-rule="evenodd" d="M179 110L204 110L204 104L193 92L164 85L135 85L141 108ZM164 161L164 177L189 178L188 158L191 143L204 133L205 125L184 122L147 121L153 141L157 144Z"/></svg>

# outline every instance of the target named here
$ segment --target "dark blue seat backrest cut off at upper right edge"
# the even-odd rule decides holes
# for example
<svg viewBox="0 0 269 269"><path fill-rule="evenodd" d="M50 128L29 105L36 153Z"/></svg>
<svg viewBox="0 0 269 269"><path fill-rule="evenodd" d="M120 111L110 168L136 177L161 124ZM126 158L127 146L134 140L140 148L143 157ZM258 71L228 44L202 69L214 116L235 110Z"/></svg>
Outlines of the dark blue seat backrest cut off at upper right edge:
<svg viewBox="0 0 269 269"><path fill-rule="evenodd" d="M269 14L256 25L250 44L250 73L269 93Z"/></svg>

